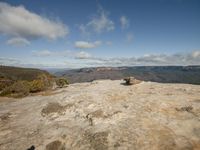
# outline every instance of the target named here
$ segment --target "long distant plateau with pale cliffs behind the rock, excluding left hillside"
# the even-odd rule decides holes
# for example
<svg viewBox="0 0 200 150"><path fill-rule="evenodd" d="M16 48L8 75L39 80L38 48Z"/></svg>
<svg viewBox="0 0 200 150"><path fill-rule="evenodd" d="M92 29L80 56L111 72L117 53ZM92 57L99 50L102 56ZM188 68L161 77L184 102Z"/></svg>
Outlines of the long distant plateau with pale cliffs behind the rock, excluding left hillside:
<svg viewBox="0 0 200 150"><path fill-rule="evenodd" d="M66 77L70 83L134 76L144 81L200 84L200 66L97 67L66 70L55 75Z"/></svg>

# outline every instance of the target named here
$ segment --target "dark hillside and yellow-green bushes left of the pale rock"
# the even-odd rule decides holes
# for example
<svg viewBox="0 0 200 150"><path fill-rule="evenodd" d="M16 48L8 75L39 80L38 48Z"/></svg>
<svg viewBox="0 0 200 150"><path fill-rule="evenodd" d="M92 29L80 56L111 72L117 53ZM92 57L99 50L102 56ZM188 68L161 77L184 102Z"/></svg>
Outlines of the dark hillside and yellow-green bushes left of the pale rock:
<svg viewBox="0 0 200 150"><path fill-rule="evenodd" d="M0 96L25 97L30 93L68 85L65 78L56 78L46 71L0 66Z"/></svg>

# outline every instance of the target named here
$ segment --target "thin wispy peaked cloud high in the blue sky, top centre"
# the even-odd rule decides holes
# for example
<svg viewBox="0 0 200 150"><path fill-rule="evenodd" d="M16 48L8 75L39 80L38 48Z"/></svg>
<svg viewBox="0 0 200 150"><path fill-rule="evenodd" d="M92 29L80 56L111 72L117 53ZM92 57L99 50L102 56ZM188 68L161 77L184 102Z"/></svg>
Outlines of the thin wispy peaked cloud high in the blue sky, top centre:
<svg viewBox="0 0 200 150"><path fill-rule="evenodd" d="M100 9L99 13L94 16L85 25L80 25L79 29L83 34L109 32L115 29L114 22L108 17L108 14Z"/></svg>

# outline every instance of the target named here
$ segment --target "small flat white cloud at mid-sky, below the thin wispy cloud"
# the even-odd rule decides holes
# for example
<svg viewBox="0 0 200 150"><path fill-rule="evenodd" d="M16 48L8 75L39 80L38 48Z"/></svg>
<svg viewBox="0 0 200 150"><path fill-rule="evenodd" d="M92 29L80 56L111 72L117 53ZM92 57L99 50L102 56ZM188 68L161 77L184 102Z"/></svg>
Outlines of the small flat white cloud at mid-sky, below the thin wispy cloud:
<svg viewBox="0 0 200 150"><path fill-rule="evenodd" d="M76 41L75 47L86 49L86 48L96 48L101 45L101 41L95 41L95 42L86 42L86 41Z"/></svg>

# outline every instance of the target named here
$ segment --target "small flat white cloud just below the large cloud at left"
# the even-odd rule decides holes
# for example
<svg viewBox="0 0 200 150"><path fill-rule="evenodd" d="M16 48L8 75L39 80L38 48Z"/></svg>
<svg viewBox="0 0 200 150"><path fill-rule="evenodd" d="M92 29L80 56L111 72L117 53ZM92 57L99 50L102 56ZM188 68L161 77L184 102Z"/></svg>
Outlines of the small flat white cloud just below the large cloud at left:
<svg viewBox="0 0 200 150"><path fill-rule="evenodd" d="M25 46L25 45L29 45L30 42L24 38L14 37L14 38L9 39L7 41L7 44L13 45L13 46Z"/></svg>

